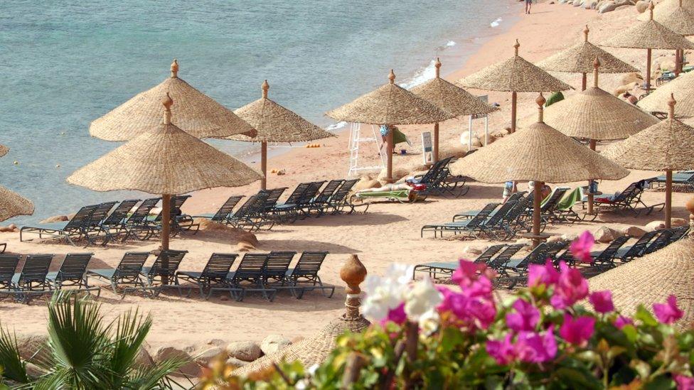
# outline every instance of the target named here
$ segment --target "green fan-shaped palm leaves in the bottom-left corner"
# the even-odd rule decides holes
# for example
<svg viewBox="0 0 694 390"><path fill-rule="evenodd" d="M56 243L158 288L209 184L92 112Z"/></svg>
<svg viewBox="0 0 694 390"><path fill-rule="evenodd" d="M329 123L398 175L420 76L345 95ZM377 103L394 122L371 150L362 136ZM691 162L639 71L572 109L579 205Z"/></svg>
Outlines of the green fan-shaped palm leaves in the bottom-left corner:
<svg viewBox="0 0 694 390"><path fill-rule="evenodd" d="M170 359L137 364L151 317L130 310L105 324L100 305L58 293L48 305L48 353L35 363L44 374L29 378L16 340L0 329L2 376L31 389L170 389L166 377L186 363Z"/></svg>

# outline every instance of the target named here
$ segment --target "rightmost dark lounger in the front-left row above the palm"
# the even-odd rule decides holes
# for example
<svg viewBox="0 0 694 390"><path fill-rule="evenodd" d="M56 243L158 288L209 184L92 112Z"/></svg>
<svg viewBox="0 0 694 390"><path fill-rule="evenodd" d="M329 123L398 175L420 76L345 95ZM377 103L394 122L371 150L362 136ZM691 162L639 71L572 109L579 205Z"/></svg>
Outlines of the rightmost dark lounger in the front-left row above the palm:
<svg viewBox="0 0 694 390"><path fill-rule="evenodd" d="M287 286L291 286L292 293L297 299L304 296L306 291L320 290L321 293L331 298L335 293L335 286L326 286L318 275L321 265L328 256L328 252L304 252L299 257L299 262L293 269L288 269L284 276Z"/></svg>

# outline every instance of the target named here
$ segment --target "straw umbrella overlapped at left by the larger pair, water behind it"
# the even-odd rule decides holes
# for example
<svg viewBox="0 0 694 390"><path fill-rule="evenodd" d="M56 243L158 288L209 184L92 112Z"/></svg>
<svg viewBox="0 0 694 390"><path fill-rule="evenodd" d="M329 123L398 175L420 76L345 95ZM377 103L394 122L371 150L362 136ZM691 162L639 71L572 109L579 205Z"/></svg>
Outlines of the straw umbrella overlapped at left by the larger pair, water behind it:
<svg viewBox="0 0 694 390"><path fill-rule="evenodd" d="M262 83L262 97L255 102L237 109L234 114L250 124L257 132L253 138L238 134L229 139L245 142L260 142L260 170L264 178L260 179L260 189L265 190L267 180L267 143L268 142L303 142L323 139L333 134L321 129L289 109L267 98L270 86L267 80Z"/></svg>

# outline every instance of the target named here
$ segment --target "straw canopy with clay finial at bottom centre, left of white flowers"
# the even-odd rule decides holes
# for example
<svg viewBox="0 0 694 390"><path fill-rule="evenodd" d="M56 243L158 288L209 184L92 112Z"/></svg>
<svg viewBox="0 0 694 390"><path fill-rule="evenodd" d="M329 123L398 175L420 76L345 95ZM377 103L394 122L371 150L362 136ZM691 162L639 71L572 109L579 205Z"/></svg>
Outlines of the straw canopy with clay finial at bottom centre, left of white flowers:
<svg viewBox="0 0 694 390"><path fill-rule="evenodd" d="M289 345L250 364L234 370L235 375L246 376L253 372L258 372L269 365L284 362L295 362L299 360L304 367L311 367L314 364L323 363L332 350L336 347L336 338L345 332L361 332L370 323L359 313L361 300L359 284L366 277L366 269L356 255L352 255L340 271L340 276L347 283L347 300L345 303L346 313L341 317L332 320L326 327L315 335L296 344Z"/></svg>

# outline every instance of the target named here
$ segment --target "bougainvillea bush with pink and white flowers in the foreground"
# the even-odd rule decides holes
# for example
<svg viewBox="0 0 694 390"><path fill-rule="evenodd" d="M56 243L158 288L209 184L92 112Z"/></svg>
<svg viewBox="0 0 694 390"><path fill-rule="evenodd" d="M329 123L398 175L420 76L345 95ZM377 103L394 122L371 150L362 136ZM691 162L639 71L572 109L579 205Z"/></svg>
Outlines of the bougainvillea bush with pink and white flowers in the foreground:
<svg viewBox="0 0 694 390"><path fill-rule="evenodd" d="M592 242L572 244L577 262L589 261ZM694 389L694 330L673 328L683 317L674 296L629 318L579 269L549 260L506 296L493 271L466 260L454 288L412 282L407 266L386 275L366 280L363 315L374 325L339 337L320 367L280 364L229 388Z"/></svg>

